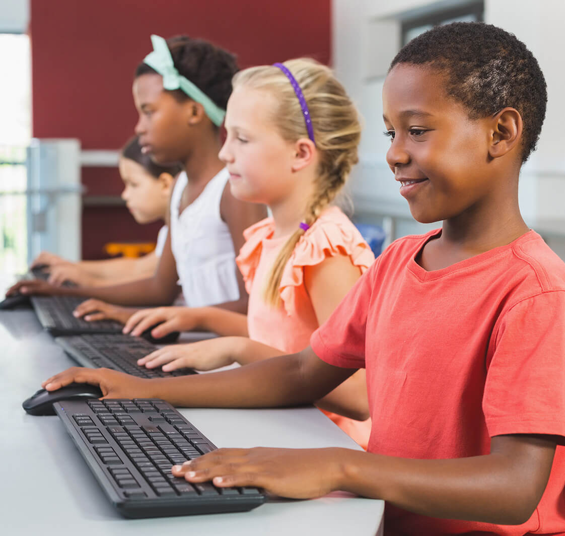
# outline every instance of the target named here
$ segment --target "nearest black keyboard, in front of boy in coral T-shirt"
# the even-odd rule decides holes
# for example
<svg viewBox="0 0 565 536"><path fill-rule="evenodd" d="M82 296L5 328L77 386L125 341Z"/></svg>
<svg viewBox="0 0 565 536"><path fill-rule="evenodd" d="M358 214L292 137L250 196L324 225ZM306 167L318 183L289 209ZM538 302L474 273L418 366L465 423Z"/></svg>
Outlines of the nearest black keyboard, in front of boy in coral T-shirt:
<svg viewBox="0 0 565 536"><path fill-rule="evenodd" d="M163 400L69 400L53 407L125 517L239 512L266 500L257 488L220 489L173 477L172 465L216 447Z"/></svg>

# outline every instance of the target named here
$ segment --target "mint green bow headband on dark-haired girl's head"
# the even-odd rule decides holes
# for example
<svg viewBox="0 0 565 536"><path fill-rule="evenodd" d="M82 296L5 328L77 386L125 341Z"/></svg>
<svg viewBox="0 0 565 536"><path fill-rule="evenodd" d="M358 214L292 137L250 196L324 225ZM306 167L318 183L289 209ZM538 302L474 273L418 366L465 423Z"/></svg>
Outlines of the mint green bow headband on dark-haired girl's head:
<svg viewBox="0 0 565 536"><path fill-rule="evenodd" d="M179 74L173 63L167 41L162 37L152 35L151 44L153 44L153 52L147 54L143 61L163 77L163 88L182 90L193 101L199 102L204 107L204 111L211 122L219 127L224 122L225 110L216 105L210 97L190 80Z"/></svg>

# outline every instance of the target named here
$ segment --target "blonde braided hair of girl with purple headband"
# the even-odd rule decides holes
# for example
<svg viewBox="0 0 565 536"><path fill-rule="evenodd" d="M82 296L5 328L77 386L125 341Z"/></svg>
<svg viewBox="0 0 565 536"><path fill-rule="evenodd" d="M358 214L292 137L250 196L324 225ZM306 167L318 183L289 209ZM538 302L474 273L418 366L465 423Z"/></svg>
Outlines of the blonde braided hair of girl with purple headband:
<svg viewBox="0 0 565 536"><path fill-rule="evenodd" d="M283 64L292 72L308 103L319 153L314 182L316 193L303 217L303 222L311 226L340 192L351 168L358 161L357 148L361 135L359 114L329 67L305 58L292 59ZM233 88L242 86L265 89L276 95L277 109L273 113L273 120L283 139L297 141L308 137L298 98L288 78L278 67L251 67L238 72L233 77ZM268 304L280 304L282 273L304 233L298 228L273 263L264 289L264 299Z"/></svg>

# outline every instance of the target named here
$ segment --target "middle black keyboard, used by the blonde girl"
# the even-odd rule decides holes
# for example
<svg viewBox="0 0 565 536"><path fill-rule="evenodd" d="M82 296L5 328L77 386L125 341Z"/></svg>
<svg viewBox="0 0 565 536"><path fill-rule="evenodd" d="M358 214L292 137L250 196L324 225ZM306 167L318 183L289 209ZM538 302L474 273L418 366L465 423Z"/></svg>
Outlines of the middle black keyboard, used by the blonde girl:
<svg viewBox="0 0 565 536"><path fill-rule="evenodd" d="M71 335L57 337L55 341L64 351L81 365L119 370L140 378L169 378L196 374L194 369L178 369L164 372L158 369L146 369L137 364L137 360L157 350L157 346L141 337L131 335Z"/></svg>

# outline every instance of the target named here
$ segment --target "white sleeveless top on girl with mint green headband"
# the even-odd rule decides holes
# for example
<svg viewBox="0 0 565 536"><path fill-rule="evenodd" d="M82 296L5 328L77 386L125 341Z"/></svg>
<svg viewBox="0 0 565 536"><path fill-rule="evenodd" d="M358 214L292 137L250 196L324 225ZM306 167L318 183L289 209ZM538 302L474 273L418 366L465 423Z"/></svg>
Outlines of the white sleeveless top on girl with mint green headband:
<svg viewBox="0 0 565 536"><path fill-rule="evenodd" d="M184 171L171 194L171 249L188 307L215 305L240 297L232 235L220 216L220 200L228 178L224 168L181 214L182 192L188 184Z"/></svg>

